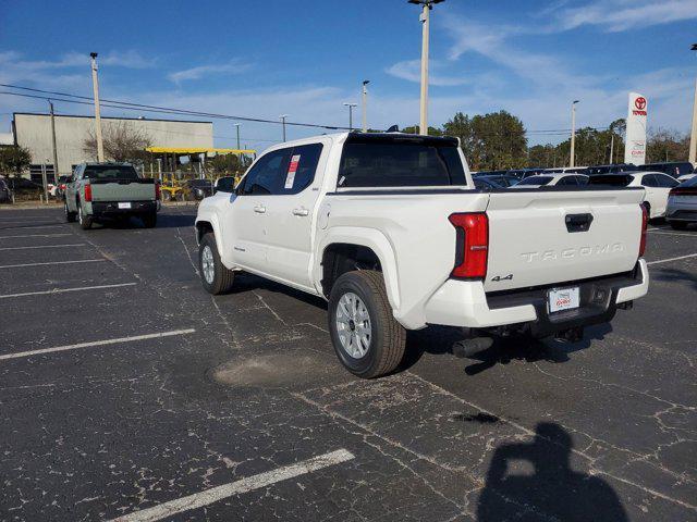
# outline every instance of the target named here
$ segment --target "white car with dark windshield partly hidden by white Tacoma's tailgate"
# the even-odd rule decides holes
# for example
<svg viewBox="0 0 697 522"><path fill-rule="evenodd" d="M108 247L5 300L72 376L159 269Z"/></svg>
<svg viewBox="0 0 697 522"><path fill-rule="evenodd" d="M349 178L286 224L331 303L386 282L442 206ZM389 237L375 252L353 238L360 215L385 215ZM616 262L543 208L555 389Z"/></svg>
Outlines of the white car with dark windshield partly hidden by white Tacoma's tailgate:
<svg viewBox="0 0 697 522"><path fill-rule="evenodd" d="M671 188L680 185L673 176L662 172L619 172L616 174L598 174L590 176L590 185L611 187L644 187L646 196L644 206L649 219L663 217L668 207L668 195Z"/></svg>

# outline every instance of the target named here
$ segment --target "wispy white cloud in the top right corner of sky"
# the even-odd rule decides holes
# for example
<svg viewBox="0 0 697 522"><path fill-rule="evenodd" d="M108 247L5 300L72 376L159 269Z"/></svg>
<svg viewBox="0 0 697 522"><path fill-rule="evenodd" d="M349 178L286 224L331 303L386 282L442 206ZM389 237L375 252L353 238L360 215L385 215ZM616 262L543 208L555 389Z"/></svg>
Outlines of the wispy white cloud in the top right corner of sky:
<svg viewBox="0 0 697 522"><path fill-rule="evenodd" d="M557 10L550 30L597 25L616 33L697 18L697 0L602 0Z"/></svg>

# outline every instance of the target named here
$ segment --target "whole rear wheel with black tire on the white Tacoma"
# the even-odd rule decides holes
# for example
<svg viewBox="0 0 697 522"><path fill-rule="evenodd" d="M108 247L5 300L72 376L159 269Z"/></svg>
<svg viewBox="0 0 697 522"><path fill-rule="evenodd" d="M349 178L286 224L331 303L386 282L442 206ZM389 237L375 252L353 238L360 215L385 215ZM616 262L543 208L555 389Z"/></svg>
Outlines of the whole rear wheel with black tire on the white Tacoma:
<svg viewBox="0 0 697 522"><path fill-rule="evenodd" d="M406 331L394 320L382 273L343 274L329 296L329 333L337 357L354 375L374 378L402 361Z"/></svg>

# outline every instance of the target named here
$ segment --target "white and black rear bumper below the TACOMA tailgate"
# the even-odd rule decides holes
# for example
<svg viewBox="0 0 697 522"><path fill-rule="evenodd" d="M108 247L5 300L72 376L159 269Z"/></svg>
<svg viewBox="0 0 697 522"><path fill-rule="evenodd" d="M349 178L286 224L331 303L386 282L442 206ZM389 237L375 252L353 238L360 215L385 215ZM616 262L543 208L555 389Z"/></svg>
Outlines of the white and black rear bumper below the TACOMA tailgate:
<svg viewBox="0 0 697 522"><path fill-rule="evenodd" d="M543 336L608 322L614 316L617 304L645 296L648 285L644 259L627 274L505 293L486 294L481 282L449 279L426 303L426 322L472 328L518 325L534 335ZM579 308L549 313L547 291L571 286L580 289Z"/></svg>

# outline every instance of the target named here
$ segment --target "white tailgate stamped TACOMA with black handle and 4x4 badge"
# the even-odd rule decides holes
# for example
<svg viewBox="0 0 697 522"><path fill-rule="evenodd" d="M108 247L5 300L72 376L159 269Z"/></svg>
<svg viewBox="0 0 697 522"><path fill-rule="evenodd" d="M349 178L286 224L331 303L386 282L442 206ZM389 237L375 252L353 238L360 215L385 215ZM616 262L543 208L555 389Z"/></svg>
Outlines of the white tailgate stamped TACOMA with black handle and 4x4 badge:
<svg viewBox="0 0 697 522"><path fill-rule="evenodd" d="M492 192L486 291L631 271L641 236L643 189Z"/></svg>

